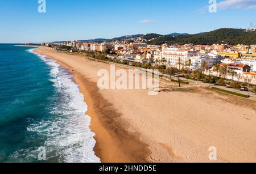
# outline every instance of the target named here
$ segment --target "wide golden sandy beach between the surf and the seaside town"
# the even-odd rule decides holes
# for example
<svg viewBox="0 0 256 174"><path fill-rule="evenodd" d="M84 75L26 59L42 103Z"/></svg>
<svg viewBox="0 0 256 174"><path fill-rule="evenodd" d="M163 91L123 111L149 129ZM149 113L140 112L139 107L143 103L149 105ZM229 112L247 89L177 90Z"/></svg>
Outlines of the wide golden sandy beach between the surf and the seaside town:
<svg viewBox="0 0 256 174"><path fill-rule="evenodd" d="M80 85L94 151L102 162L256 162L256 103L204 87L149 96L147 90L100 90L110 64L79 54L35 49L69 69ZM160 85L175 86L174 82ZM216 147L217 160L209 160Z"/></svg>

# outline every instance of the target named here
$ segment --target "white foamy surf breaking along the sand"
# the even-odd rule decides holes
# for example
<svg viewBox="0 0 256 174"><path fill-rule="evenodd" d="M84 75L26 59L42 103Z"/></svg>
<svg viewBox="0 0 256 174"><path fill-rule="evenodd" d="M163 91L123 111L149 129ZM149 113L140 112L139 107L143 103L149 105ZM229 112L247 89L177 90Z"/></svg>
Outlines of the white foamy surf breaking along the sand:
<svg viewBox="0 0 256 174"><path fill-rule="evenodd" d="M32 49L28 50L32 52ZM94 133L90 130L90 117L85 115L87 105L73 76L56 61L37 54L51 67L51 81L56 96L48 107L52 117L28 126L27 130L45 136L44 147L47 158L57 158L59 162L100 162L93 148L96 144Z"/></svg>

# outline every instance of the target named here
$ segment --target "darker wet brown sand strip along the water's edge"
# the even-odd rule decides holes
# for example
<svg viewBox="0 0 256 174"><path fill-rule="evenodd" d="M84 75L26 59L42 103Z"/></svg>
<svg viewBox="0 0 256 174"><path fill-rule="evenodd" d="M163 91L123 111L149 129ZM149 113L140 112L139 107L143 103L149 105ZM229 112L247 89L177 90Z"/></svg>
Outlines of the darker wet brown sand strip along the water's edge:
<svg viewBox="0 0 256 174"><path fill-rule="evenodd" d="M35 53L43 54L34 49ZM122 123L115 121L114 118L120 117L112 108L111 103L105 100L98 92L97 83L83 77L71 66L56 60L54 57L43 54L59 63L60 66L73 74L73 79L79 84L80 92L84 95L84 102L88 105L85 113L91 118L90 129L95 133L96 146L94 152L103 163L146 163L150 151L148 145L140 141L138 134L129 133ZM107 114L111 114L111 117ZM124 145L126 142L126 145ZM134 154L136 152L136 155Z"/></svg>

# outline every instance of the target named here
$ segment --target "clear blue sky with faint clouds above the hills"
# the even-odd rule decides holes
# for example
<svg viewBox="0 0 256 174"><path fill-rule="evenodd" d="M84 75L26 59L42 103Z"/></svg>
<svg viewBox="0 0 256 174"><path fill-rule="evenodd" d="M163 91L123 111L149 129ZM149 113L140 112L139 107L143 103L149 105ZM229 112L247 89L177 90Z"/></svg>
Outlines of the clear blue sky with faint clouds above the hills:
<svg viewBox="0 0 256 174"><path fill-rule="evenodd" d="M0 43L113 38L138 33L199 33L217 28L256 28L256 0L38 0L0 1Z"/></svg>

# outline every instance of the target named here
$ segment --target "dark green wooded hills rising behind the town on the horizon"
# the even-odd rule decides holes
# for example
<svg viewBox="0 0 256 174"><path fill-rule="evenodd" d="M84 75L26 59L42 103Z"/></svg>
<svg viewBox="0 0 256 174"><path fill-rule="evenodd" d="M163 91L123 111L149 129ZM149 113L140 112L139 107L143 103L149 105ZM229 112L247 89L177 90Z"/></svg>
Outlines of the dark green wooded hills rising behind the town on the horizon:
<svg viewBox="0 0 256 174"><path fill-rule="evenodd" d="M137 37L143 37L148 44L161 45L168 43L171 45L212 45L212 44L256 44L256 31L246 32L242 28L220 28L209 32L200 32L197 34L188 33L171 33L168 35L159 35L157 33L148 33L146 35L125 35L121 37L114 37L113 39L89 39L79 40L81 42L104 42L104 41L121 41L127 39L133 39ZM53 42L61 43L61 42Z"/></svg>

